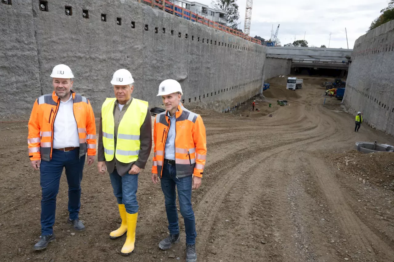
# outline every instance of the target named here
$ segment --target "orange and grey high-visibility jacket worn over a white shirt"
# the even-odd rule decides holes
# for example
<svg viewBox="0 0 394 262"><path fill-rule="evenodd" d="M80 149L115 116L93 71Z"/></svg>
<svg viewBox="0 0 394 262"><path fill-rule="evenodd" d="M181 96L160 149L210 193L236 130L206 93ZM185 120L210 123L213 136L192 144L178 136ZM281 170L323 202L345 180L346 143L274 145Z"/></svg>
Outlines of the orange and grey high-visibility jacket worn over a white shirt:
<svg viewBox="0 0 394 262"><path fill-rule="evenodd" d="M72 109L78 127L79 155L96 155L95 115L89 100L71 90ZM60 98L55 92L35 100L29 120L28 148L30 161L50 161L53 149L53 124Z"/></svg>

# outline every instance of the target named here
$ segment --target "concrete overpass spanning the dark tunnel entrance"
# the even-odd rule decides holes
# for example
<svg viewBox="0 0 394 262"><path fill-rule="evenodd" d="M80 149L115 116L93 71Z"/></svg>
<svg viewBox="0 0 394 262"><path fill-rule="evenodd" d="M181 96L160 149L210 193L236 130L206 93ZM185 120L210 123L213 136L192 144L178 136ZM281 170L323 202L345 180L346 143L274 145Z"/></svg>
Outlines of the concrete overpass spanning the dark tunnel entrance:
<svg viewBox="0 0 394 262"><path fill-rule="evenodd" d="M352 49L275 46L267 47L267 57L291 59L292 68L323 68L343 70L346 74L351 63Z"/></svg>

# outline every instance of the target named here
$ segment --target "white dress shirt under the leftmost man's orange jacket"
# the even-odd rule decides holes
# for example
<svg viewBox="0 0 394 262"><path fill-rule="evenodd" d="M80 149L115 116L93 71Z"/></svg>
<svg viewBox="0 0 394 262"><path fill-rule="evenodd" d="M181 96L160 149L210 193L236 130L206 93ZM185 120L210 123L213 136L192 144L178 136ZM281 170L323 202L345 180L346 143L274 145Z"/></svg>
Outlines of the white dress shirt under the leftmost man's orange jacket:
<svg viewBox="0 0 394 262"><path fill-rule="evenodd" d="M69 148L79 146L78 127L72 110L72 96L66 102L60 101L58 113L53 125L53 148Z"/></svg>

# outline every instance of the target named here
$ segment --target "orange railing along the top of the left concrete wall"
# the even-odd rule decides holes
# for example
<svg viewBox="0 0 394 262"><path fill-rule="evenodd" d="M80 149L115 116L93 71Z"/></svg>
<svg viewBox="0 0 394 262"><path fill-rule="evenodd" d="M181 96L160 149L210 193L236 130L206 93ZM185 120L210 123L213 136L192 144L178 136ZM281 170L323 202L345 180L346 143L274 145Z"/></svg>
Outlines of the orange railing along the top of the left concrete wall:
<svg viewBox="0 0 394 262"><path fill-rule="evenodd" d="M197 22L199 24L204 24L208 27L212 27L217 30L229 33L231 35L241 37L242 39L245 39L247 41L251 41L256 44L261 44L261 41L258 39L250 37L249 35L245 35L244 33L241 33L240 31L238 31L236 29L229 28L227 26L223 26L222 24L219 24L218 22L214 22L214 21L209 20L201 15L195 14L188 9L184 9L183 7L174 5L173 3L171 3L167 0L142 0L142 1L150 4L151 7L158 7L165 12L171 13L173 15L177 15L178 17L190 20L192 22ZM141 3L141 0L138 0L138 2ZM164 8L163 8L163 2L164 2Z"/></svg>

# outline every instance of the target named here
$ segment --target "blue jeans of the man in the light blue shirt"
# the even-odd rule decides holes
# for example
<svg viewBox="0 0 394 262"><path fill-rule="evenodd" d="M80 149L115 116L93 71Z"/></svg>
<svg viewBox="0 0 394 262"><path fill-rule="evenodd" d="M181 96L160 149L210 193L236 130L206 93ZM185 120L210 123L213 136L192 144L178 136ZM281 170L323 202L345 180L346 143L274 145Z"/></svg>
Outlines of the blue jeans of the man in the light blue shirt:
<svg viewBox="0 0 394 262"><path fill-rule="evenodd" d="M176 175L176 167L164 162L160 181L165 198L168 230L170 234L179 233L178 212L175 203L177 198L175 186L177 186L180 214L183 216L185 223L186 244L194 245L197 232L194 212L191 207L191 175L182 178L177 178Z"/></svg>

